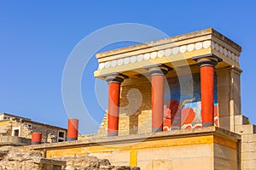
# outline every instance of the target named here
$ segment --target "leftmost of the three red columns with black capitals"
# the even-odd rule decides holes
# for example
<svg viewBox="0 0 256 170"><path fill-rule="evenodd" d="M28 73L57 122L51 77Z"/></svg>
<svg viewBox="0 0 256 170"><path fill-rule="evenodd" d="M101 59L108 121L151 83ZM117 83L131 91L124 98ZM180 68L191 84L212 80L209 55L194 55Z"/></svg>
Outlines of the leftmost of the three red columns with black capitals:
<svg viewBox="0 0 256 170"><path fill-rule="evenodd" d="M108 136L118 136L119 133L119 96L120 84L127 78L122 74L106 77L108 82Z"/></svg>

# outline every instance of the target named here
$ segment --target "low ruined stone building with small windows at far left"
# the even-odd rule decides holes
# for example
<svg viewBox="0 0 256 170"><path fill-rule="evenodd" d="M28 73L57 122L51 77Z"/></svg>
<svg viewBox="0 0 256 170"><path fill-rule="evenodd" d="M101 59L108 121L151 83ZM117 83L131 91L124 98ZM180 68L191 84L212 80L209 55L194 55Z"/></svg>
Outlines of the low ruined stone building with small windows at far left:
<svg viewBox="0 0 256 170"><path fill-rule="evenodd" d="M0 113L0 144L31 144L32 133L42 133L42 143L66 140L67 129L55 127L21 116Z"/></svg>

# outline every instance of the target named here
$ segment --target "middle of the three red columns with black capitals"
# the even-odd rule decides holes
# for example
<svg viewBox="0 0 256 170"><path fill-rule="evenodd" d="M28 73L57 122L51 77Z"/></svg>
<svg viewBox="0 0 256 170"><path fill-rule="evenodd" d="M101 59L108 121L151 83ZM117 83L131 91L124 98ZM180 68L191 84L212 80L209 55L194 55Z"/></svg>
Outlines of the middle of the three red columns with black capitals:
<svg viewBox="0 0 256 170"><path fill-rule="evenodd" d="M152 85L152 133L163 131L164 121L164 82L166 73L171 70L166 65L148 67Z"/></svg>

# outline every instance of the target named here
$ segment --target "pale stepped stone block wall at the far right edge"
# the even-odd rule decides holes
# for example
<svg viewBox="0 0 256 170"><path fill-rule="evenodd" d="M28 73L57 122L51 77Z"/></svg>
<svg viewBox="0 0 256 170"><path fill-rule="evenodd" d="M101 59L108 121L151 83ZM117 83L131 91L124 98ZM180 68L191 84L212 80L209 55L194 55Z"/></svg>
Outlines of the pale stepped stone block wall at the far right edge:
<svg viewBox="0 0 256 170"><path fill-rule="evenodd" d="M235 116L235 132L241 134L241 169L256 169L256 126L247 116Z"/></svg>

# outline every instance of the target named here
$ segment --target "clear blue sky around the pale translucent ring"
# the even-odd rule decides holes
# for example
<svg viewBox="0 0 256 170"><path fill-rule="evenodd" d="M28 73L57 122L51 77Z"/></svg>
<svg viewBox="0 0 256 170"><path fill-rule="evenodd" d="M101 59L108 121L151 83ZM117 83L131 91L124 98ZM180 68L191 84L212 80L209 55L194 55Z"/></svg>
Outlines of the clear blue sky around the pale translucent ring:
<svg viewBox="0 0 256 170"><path fill-rule="evenodd" d="M170 37L213 27L240 44L242 114L256 123L255 8L248 0L1 1L0 112L67 127L61 78L68 55L92 31L129 22L154 26ZM91 97L96 67L91 59L81 90L101 122L103 111Z"/></svg>

